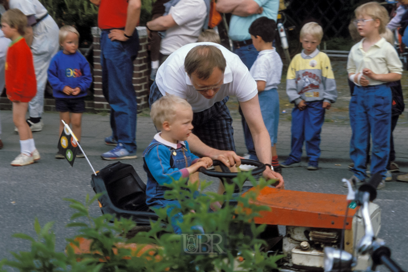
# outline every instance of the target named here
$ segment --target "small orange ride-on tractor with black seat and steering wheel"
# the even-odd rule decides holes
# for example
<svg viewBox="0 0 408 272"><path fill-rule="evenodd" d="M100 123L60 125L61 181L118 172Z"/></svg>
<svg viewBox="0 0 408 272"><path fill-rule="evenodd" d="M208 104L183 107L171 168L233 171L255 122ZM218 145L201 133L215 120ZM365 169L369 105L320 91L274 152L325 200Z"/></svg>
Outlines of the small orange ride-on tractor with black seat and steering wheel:
<svg viewBox="0 0 408 272"><path fill-rule="evenodd" d="M265 170L265 165L260 162L242 160L242 163L257 167L252 171L253 175ZM220 165L225 172L203 168L200 171L228 183L238 174L229 172L219 161L214 161L214 165ZM131 165L117 162L105 167L97 175L92 175L91 186L96 193L105 192L99 197L102 213L131 218L138 226L148 226L150 220L158 219L145 204L146 185ZM255 223L286 226L284 237L270 239L268 233L265 235L267 241L273 241L274 245L278 244L278 240L282 241L278 251L273 253L283 252L286 255L281 267L283 271L323 271L324 247L343 249L353 255L357 264L354 270L365 270L370 266L368 254L357 254L357 244L364 236L361 211L345 195L264 187L255 203L270 207L270 211L263 211L260 217L255 218ZM381 210L374 203L369 203L368 210L376 236L381 225ZM276 235L274 230L273 227L266 228ZM89 241L81 241L77 252L86 252L89 244Z"/></svg>

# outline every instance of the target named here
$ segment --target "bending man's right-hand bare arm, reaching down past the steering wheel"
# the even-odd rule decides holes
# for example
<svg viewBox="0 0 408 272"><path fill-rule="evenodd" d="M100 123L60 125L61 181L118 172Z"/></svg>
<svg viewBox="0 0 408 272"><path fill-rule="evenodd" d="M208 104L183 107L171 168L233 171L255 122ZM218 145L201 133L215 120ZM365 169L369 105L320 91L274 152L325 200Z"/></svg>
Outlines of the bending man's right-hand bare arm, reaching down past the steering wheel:
<svg viewBox="0 0 408 272"><path fill-rule="evenodd" d="M262 119L258 96L256 95L246 102L239 102L239 105L241 106L242 113L248 123L252 138L254 139L256 156L260 162L271 164L271 138ZM279 181L276 188L285 187L282 175L272 171L269 167L263 172L263 176L267 179L278 179Z"/></svg>

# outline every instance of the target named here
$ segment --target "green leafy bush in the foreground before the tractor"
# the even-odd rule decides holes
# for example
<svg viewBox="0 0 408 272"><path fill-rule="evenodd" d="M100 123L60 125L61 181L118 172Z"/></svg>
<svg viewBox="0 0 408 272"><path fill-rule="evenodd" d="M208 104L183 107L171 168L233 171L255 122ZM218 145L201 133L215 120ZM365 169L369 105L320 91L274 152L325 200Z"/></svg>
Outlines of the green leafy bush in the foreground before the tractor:
<svg viewBox="0 0 408 272"><path fill-rule="evenodd" d="M89 196L85 204L76 200L68 199L70 207L76 212L72 215L72 222L68 227L78 229L76 238L91 239L90 253L75 255L71 246L67 246L66 254L56 253L55 236L51 231L52 222L40 227L35 220L34 228L37 239L25 234L16 234L14 237L30 240L31 252L13 253L16 260L3 259L0 262L0 271L4 265L17 268L19 271L143 271L143 272L271 272L277 269L276 260L282 256L268 256L261 248L265 245L264 240L256 237L265 229L265 225L256 225L254 218L259 212L267 210L266 206L253 204L257 196L257 190L249 191L245 196L234 194L237 185L240 190L249 178L250 181L261 189L268 185L262 178L258 182L248 174L242 174L234 179L234 185L226 185L226 194L218 195L203 190L209 183L202 182L200 194L193 192L198 189L196 185L185 185L185 180L175 181L169 187L173 189L167 192L167 197L178 199L181 208L173 212L182 212L183 222L179 224L185 233L191 233L191 226L202 225L206 234L221 233L228 241L225 254L195 255L186 254L182 246L182 236L172 233L166 210L159 209L157 213L160 220L151 222L151 229L132 234L135 223L131 220L114 219L111 215L91 217L89 206L97 199ZM257 185L256 185L257 184ZM187 190L185 189L187 188ZM226 204L225 207L208 212L210 203L215 201L238 202L238 205ZM194 210L195 212L190 212ZM74 221L75 220L75 221ZM250 229L250 234L246 230ZM132 238L133 236L133 238ZM79 245L74 239L68 238L71 244ZM144 252L136 250L139 256L132 254L126 245L153 245ZM122 245L122 246L119 246ZM102 262L101 262L102 261Z"/></svg>

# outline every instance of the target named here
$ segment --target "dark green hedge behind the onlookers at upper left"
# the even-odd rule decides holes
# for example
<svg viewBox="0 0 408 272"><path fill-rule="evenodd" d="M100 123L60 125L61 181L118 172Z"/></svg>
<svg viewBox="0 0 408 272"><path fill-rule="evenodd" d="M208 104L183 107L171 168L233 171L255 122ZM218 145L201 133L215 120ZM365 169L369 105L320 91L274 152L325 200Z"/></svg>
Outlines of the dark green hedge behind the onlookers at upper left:
<svg viewBox="0 0 408 272"><path fill-rule="evenodd" d="M89 0L40 0L59 27L73 25L81 35L80 47L92 43L91 27L98 25L98 7ZM153 0L142 0L140 25L150 20Z"/></svg>

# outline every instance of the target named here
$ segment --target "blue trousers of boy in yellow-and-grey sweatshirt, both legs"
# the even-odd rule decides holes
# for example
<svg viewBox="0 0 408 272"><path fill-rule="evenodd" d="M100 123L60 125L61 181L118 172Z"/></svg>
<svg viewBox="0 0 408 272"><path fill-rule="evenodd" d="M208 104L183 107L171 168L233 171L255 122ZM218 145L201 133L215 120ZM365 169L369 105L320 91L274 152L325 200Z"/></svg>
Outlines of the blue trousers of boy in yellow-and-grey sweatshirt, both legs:
<svg viewBox="0 0 408 272"><path fill-rule="evenodd" d="M306 102L307 107L292 110L292 139L289 157L299 162L302 157L303 142L306 141L306 154L309 161L318 161L320 157L320 133L324 122L323 101Z"/></svg>

